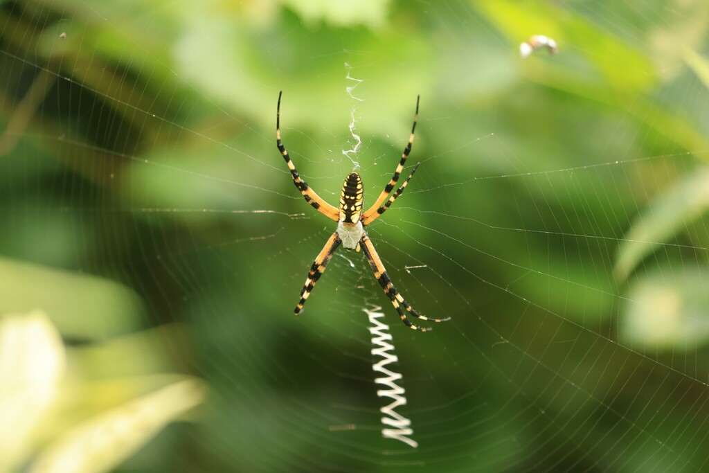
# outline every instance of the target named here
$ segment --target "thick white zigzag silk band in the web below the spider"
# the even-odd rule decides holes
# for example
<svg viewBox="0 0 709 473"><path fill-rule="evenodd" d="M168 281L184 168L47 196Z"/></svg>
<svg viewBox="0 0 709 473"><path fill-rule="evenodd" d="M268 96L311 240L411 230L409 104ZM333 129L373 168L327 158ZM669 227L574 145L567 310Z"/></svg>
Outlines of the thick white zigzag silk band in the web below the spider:
<svg viewBox="0 0 709 473"><path fill-rule="evenodd" d="M392 399L391 404L379 408L379 411L384 414L384 417L381 418L381 423L385 425L385 427L381 429L381 435L384 438L400 440L416 448L418 447L418 443L409 438L409 436L413 434L411 420L396 412L398 406L406 405L404 389L396 384L396 382L402 379L402 376L400 373L393 372L391 369L386 368L386 365L389 365L389 363L398 362L398 357L393 354L394 345L391 344L393 338L391 337L391 333L389 333L389 325L378 320L384 317L384 313L381 312L381 307L374 307L371 311L366 308L362 310L367 313L369 323L372 324L372 326L369 327L369 333L372 334L372 345L374 345L372 355L382 358L382 360L372 365L372 369L385 375L385 377L374 379L374 383L382 384L389 388L379 389L376 391L376 395Z"/></svg>

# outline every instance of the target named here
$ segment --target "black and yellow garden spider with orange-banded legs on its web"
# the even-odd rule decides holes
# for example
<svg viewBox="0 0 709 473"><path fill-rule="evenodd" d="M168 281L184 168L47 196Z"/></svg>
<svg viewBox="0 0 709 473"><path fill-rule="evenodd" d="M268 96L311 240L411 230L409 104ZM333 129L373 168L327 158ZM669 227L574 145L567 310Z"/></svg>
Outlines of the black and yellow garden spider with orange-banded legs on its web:
<svg viewBox="0 0 709 473"><path fill-rule="evenodd" d="M362 212L364 189L362 187L362 178L359 177L359 174L357 172L350 172L350 174L345 177L345 182L342 184L342 191L340 193L339 209L325 202L320 196L318 196L318 194L316 194L315 191L313 191L313 189L311 189L311 187L308 187L308 184L306 184L306 182L303 181L303 179L300 177L296 166L293 164L293 161L291 161L291 157L288 155L288 151L286 151L286 148L284 147L283 143L281 143L282 94L283 91L278 94L278 106L276 111L276 145L278 147L278 150L281 152L281 155L283 155L284 160L286 160L286 165L288 165L288 168L291 171L291 177L293 177L293 182L294 184L296 184L298 190L301 191L301 194L303 194L303 197L306 199L306 202L308 202L308 204L311 204L313 208L315 208L318 212L322 213L324 216L337 222L337 230L335 230L335 233L330 236L328 242L325 243L325 247L323 247L323 250L320 251L320 254L313 262L313 266L311 267L310 272L308 272L308 279L306 279L306 284L303 286L303 290L301 291L301 300L298 302L298 305L296 306L294 311L295 315L297 316L299 313L301 313L301 310L303 310L303 304L306 303L306 300L308 299L308 296L310 296L311 291L313 291L316 282L318 282L320 276L322 276L323 272L325 272L325 267L327 267L330 260L332 260L335 250L337 250L337 247L342 244L342 246L344 246L347 251L355 250L359 252L360 248L362 249L362 251L364 252L364 256L366 256L367 261L369 261L369 266L372 267L374 277L376 277L376 280L379 281L379 284L381 285L382 289L384 289L384 294L386 294L386 296L391 299L391 304L398 312L403 323L405 323L409 328L413 328L413 330L420 330L422 332L431 330L430 328L419 327L418 325L414 325L413 323L411 323L411 321L408 320L408 317L406 316L406 312L411 313L411 315L418 317L424 321L443 322L449 320L450 317L430 318L422 316L420 315L420 313L415 311L415 309L411 307L411 305L408 304L405 299L403 299L403 296L398 293L396 287L394 287L394 285L391 283L389 274L386 274L384 264L381 262L379 255L376 254L376 250L374 250L374 245L372 245L372 240L369 239L369 236L367 236L367 232L364 231L365 226L375 221L376 218L379 218L379 216L381 216L382 213L386 212L386 209L389 208L391 204L393 204L393 201L395 201L398 196L401 196L401 193L404 189L406 189L406 185L411 180L411 177L413 177L413 173L416 172L416 169L418 169L418 165L420 165L420 162L417 162L416 165L413 167L411 174L408 174L406 181L401 184L401 187L399 187L396 192L391 194L391 191L393 190L394 186L396 185L396 182L398 182L399 176L401 175L403 166L406 163L406 158L408 158L408 155L411 152L411 143L413 143L413 132L416 129L416 121L418 120L419 98L416 97L416 112L413 116L411 136L408 138L408 144L403 150L401 160L396 166L396 170L394 171L394 174L391 177L391 181L389 181L389 184L386 184L386 187L384 187L384 191L381 191L381 194L379 194L379 197L376 199L374 204L369 207L367 211ZM389 197L389 200L386 199L387 197ZM384 201L386 201L386 203ZM406 312L403 311L403 309L401 308L402 306L406 309Z"/></svg>

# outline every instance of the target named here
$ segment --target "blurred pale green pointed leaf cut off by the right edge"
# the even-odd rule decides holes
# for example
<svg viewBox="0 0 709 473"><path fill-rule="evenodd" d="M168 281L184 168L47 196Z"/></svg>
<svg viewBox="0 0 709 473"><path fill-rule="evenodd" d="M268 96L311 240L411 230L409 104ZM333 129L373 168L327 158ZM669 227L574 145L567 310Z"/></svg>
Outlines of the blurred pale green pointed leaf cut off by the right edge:
<svg viewBox="0 0 709 473"><path fill-rule="evenodd" d="M678 182L637 218L618 248L615 277L624 281L637 264L709 207L709 169Z"/></svg>

